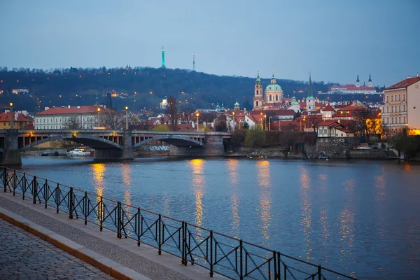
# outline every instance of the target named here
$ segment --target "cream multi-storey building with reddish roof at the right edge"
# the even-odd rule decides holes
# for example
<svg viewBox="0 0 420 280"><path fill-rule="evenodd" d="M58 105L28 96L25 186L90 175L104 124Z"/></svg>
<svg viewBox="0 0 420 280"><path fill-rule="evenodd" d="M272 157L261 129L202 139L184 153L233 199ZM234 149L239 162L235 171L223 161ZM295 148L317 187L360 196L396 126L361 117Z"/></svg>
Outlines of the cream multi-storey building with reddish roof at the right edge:
<svg viewBox="0 0 420 280"><path fill-rule="evenodd" d="M385 134L396 134L405 128L420 130L420 75L391 85L384 90L382 127Z"/></svg>

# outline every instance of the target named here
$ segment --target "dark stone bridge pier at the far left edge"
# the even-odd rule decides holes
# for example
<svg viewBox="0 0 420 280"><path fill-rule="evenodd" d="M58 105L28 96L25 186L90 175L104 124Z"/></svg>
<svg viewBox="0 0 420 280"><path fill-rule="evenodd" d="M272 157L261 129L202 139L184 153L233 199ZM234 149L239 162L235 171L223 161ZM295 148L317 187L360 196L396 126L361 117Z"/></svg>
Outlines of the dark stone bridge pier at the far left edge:
<svg viewBox="0 0 420 280"><path fill-rule="evenodd" d="M6 130L4 152L0 153L0 165L22 165L20 158L18 130Z"/></svg>

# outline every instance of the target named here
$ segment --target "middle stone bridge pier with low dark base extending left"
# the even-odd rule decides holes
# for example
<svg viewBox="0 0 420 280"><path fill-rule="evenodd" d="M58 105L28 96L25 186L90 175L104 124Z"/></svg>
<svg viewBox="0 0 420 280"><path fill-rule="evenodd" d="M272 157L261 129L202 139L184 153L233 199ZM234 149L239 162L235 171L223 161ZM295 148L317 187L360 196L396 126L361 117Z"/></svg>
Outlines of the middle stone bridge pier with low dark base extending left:
<svg viewBox="0 0 420 280"><path fill-rule="evenodd" d="M123 136L123 150L119 148L95 148L94 160L134 160L131 131L125 130Z"/></svg>

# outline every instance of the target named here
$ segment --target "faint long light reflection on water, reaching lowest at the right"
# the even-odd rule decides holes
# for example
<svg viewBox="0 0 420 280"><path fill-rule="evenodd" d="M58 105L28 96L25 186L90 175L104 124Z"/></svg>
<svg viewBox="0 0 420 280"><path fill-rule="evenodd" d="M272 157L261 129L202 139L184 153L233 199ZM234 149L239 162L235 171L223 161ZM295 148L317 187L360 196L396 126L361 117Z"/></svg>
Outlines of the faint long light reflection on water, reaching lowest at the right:
<svg viewBox="0 0 420 280"><path fill-rule="evenodd" d="M353 255L354 247L354 211L353 211L353 195L354 185L353 179L344 181L344 197L346 197L344 209L339 214L339 235L341 235L340 261L345 269L355 268L353 262L355 257ZM354 271L346 271L351 276L355 276Z"/></svg>

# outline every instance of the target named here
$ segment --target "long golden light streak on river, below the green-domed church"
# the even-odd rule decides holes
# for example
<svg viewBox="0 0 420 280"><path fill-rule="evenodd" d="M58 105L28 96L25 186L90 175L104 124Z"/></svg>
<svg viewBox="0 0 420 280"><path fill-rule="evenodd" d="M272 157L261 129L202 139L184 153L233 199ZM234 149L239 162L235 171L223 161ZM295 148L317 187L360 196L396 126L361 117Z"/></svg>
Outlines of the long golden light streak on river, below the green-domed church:
<svg viewBox="0 0 420 280"><path fill-rule="evenodd" d="M272 221L271 214L271 182L270 182L270 170L268 160L257 161L257 177L258 185L260 186L260 218L261 218L261 234L263 246L271 246L269 242L269 227Z"/></svg>

